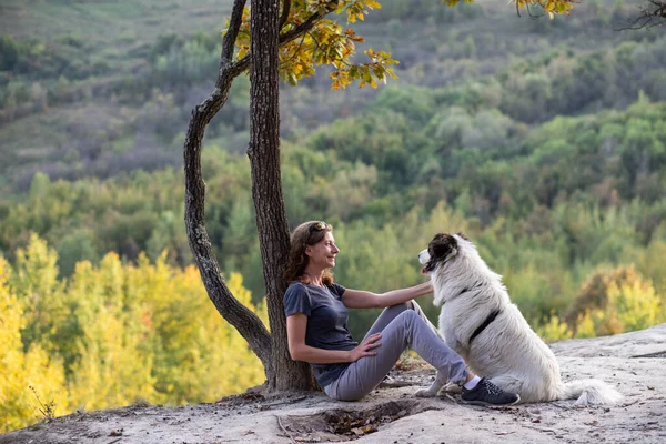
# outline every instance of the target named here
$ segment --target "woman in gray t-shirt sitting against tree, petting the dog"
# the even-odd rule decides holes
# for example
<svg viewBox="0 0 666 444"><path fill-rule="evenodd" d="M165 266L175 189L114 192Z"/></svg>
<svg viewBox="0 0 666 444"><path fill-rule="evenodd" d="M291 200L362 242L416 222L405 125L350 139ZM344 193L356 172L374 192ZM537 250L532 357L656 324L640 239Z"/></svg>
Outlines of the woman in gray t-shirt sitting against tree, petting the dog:
<svg viewBox="0 0 666 444"><path fill-rule="evenodd" d="M354 401L369 394L411 346L441 377L463 385L464 402L508 405L518 402L470 372L463 359L437 335L412 301L432 292L430 282L383 294L350 290L334 283L333 230L325 222L305 222L292 233L285 278L284 313L291 357L312 364L323 391L334 400ZM347 309L386 307L361 344L350 334Z"/></svg>

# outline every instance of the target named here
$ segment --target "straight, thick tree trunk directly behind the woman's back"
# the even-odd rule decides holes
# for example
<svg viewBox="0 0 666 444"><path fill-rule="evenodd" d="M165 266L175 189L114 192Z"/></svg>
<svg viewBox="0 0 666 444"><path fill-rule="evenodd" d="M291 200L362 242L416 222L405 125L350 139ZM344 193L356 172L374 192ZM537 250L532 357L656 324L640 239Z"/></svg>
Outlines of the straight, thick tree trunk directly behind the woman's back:
<svg viewBox="0 0 666 444"><path fill-rule="evenodd" d="M272 390L312 390L310 365L292 361L286 341L282 278L289 256L289 223L280 174L279 2L252 0L250 48L250 145L252 200L266 284L272 339Z"/></svg>

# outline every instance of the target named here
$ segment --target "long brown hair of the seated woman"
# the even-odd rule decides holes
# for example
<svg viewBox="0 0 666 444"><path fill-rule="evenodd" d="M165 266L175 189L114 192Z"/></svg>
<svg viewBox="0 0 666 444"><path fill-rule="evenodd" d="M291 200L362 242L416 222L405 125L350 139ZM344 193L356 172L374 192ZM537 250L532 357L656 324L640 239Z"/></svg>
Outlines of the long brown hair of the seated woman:
<svg viewBox="0 0 666 444"><path fill-rule="evenodd" d="M305 266L310 261L310 258L305 254L305 249L307 245L314 245L324 239L327 231L332 232L333 226L320 221L304 222L295 228L291 236L286 270L284 270L284 280L287 285L294 281L301 281L305 284L311 282L311 278L304 274ZM332 284L333 273L329 270L324 271L322 282L325 285Z"/></svg>

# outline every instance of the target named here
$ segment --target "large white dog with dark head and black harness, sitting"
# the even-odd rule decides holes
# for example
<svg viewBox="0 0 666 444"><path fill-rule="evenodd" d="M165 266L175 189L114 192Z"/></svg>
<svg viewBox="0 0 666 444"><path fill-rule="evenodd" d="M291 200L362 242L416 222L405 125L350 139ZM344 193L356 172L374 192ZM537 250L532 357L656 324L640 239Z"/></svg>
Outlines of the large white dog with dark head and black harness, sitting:
<svg viewBox="0 0 666 444"><path fill-rule="evenodd" d="M598 380L563 383L555 354L529 327L508 297L502 276L481 259L463 233L438 233L418 254L431 278L434 304L442 305L440 332L470 369L521 403L576 398L576 405L614 405L623 396ZM446 381L437 375L420 396L436 396Z"/></svg>

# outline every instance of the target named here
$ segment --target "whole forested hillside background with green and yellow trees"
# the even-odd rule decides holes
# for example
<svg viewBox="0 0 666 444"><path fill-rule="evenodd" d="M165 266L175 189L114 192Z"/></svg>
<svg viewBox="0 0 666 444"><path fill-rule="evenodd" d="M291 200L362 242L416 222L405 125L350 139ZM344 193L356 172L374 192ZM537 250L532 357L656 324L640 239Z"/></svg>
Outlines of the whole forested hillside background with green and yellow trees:
<svg viewBox="0 0 666 444"><path fill-rule="evenodd" d="M261 383L183 224L184 131L230 4L0 6L0 396L17 400L0 431L40 416L29 384L63 414ZM548 340L666 322L666 34L617 30L637 4L533 20L503 1L383 1L353 28L400 60L397 80L333 91L322 69L283 85L290 223L333 224L349 287L418 283L416 253L464 231ZM248 109L241 77L206 132L206 223L262 312ZM375 314L353 313L353 333Z"/></svg>

